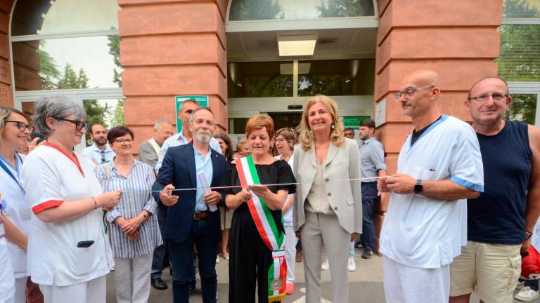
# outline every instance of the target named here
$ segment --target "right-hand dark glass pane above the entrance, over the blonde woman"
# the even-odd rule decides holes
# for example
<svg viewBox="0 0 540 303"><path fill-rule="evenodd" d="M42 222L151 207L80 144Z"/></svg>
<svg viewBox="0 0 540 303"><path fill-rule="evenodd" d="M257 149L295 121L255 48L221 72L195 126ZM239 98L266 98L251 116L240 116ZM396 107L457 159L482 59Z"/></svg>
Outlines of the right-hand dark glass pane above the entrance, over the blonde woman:
<svg viewBox="0 0 540 303"><path fill-rule="evenodd" d="M375 60L301 61L298 95L373 95Z"/></svg>

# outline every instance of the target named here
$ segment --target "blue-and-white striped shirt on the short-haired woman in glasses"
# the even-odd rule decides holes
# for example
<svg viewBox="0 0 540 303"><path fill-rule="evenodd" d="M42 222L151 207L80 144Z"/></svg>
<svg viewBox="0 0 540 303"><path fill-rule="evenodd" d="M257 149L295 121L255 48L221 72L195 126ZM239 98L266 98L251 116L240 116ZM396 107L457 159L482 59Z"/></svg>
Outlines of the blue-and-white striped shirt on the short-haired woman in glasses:
<svg viewBox="0 0 540 303"><path fill-rule="evenodd" d="M107 171L109 171L109 174ZM155 208L158 205L150 192L155 181L155 175L152 168L147 164L134 159L129 175L124 176L115 168L114 161L110 161L96 168L96 176L103 187L103 191L124 190L120 203L115 209L107 213L108 222L113 222L120 216L126 220L131 219L139 215L142 210L148 210L152 214L155 213ZM129 240L117 224L110 224L110 232L112 236L112 243L110 244L113 247L115 257L141 257L152 253L154 248L162 244L158 218L155 215L150 215L146 222L141 224L139 238L135 241Z"/></svg>

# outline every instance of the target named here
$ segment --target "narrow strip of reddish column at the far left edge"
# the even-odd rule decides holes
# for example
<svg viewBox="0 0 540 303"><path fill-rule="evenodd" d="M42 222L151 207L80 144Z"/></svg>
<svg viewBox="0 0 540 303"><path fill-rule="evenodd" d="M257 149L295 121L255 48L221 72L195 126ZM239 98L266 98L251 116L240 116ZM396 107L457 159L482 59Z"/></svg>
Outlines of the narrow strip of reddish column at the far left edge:
<svg viewBox="0 0 540 303"><path fill-rule="evenodd" d="M0 106L13 106L11 59L9 56L9 14L13 0L0 1Z"/></svg>

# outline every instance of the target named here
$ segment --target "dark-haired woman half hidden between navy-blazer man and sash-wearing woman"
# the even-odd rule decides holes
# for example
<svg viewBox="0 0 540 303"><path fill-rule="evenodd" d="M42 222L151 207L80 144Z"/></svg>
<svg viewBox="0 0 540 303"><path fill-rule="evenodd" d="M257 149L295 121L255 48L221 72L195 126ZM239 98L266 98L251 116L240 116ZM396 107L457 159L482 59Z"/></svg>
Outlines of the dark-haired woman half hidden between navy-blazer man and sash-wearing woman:
<svg viewBox="0 0 540 303"><path fill-rule="evenodd" d="M217 134L214 135L217 142L219 142L219 147L221 148L221 154L227 159L227 163L232 165L231 162L233 159L233 146L231 144L231 139L228 135ZM231 222L233 220L234 210L228 208L225 203L223 206L219 206L219 214L221 215L221 242L218 253L221 253L223 258L229 261L229 229L231 229ZM217 256L216 262L219 263L219 254Z"/></svg>

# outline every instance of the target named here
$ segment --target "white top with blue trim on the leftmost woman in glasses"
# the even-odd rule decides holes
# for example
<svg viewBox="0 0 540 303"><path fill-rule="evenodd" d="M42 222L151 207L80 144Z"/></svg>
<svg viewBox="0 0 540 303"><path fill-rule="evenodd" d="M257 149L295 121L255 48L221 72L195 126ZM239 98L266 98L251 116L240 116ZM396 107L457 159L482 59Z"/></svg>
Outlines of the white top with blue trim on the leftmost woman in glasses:
<svg viewBox="0 0 540 303"><path fill-rule="evenodd" d="M3 169L0 168L0 193L2 198L6 201L7 208L2 210L10 221L17 227L23 234L28 235L30 231L30 205L26 203L25 191L23 191L23 184L20 180L20 170L25 161L25 155L15 154L15 168L4 159L4 165L11 172L15 180L8 175ZM9 257L11 259L11 266L13 267L13 273L15 278L24 278L26 275L26 252L23 248L6 241L8 247Z"/></svg>

